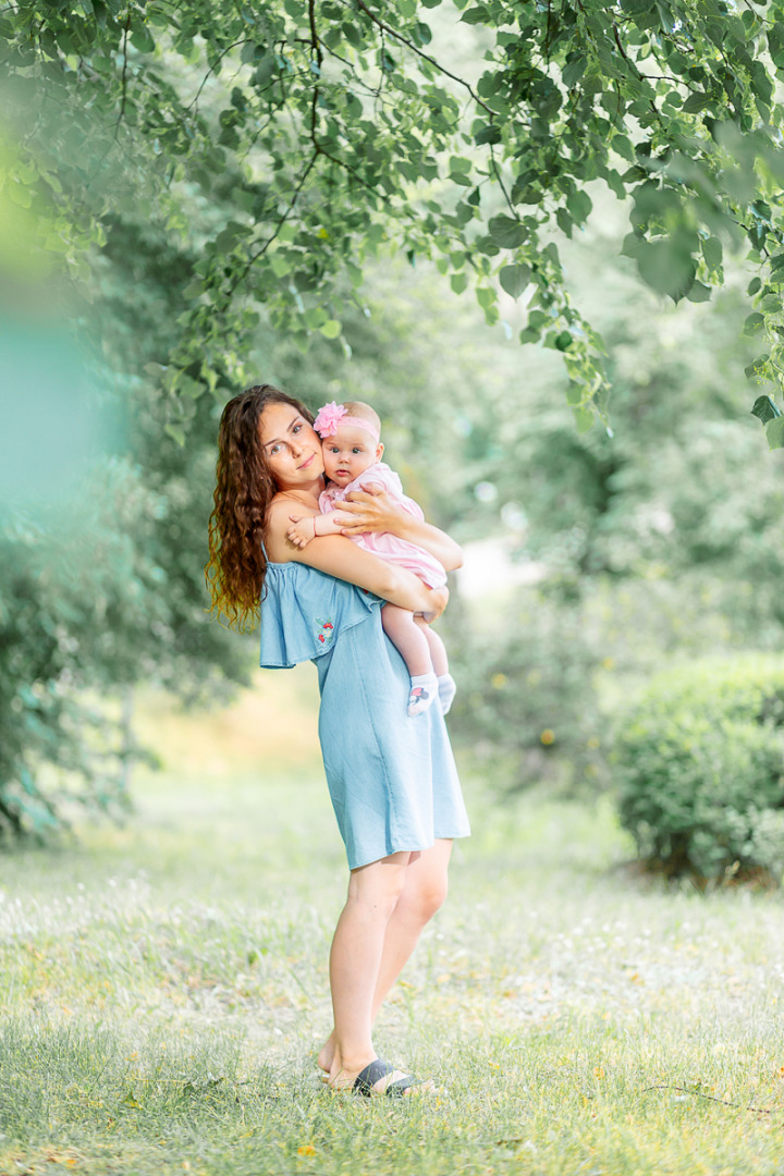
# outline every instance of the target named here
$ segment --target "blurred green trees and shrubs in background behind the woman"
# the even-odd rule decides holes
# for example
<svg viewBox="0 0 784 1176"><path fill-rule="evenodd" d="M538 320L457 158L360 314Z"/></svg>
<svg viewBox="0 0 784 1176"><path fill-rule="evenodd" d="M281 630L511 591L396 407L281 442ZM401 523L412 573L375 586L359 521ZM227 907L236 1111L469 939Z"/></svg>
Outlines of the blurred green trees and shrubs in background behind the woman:
<svg viewBox="0 0 784 1176"><path fill-rule="evenodd" d="M469 73L483 38L481 22L442 29ZM159 65L173 83L201 76L182 58ZM89 123L89 111L80 118ZM18 149L9 131L6 174ZM36 209L11 183L0 193L13 242L0 255L7 836L58 828L74 799L127 806L142 754L138 683L216 704L254 663L253 641L205 613L221 396L201 395L186 369L175 400L160 394L161 360L181 346L183 316L193 326L194 270L236 178L192 191L183 234L138 199L142 163L128 156L101 181L126 185L127 199L73 262L78 285L41 261ZM581 191L583 227L554 222L541 242L557 243L571 295L604 339L611 428L576 428L572 374L558 348L521 349L530 320L518 299L496 282L488 325L460 282L450 289L443 267L416 254L364 258L362 301L346 298L340 338L316 329L303 343L257 307L242 356L257 380L314 408L374 403L408 493L467 546L469 572L484 573L457 577L443 622L458 681L450 729L501 790L543 776L610 786L616 716L652 671L772 650L784 628L780 456L749 414L744 369L758 343L742 333L744 249L725 256L710 301L676 306L622 253L629 200L598 180ZM236 390L227 365L221 380Z"/></svg>

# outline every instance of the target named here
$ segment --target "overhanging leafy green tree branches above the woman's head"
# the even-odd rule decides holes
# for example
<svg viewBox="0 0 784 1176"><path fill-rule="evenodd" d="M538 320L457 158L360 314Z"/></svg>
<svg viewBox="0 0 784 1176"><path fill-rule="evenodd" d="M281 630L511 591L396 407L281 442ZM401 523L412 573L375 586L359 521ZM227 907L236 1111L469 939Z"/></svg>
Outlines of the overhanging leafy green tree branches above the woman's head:
<svg viewBox="0 0 784 1176"><path fill-rule="evenodd" d="M484 47L469 68L450 14ZM6 194L49 269L83 282L129 213L187 243L147 373L177 440L244 377L261 308L303 348L340 339L388 249L471 285L490 323L500 289L524 299L521 341L563 354L578 427L607 419L558 252L598 183L629 199L623 252L661 294L708 300L726 247L758 263L746 375L784 445L784 2L18 0L0 35Z"/></svg>

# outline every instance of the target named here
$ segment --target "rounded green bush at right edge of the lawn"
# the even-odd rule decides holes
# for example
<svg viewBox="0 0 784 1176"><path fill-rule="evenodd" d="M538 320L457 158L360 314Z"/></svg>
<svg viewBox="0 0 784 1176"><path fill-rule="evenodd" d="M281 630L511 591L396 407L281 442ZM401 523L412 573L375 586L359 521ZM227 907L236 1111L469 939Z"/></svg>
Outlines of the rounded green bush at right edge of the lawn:
<svg viewBox="0 0 784 1176"><path fill-rule="evenodd" d="M784 871L784 659L656 675L615 739L621 822L668 875Z"/></svg>

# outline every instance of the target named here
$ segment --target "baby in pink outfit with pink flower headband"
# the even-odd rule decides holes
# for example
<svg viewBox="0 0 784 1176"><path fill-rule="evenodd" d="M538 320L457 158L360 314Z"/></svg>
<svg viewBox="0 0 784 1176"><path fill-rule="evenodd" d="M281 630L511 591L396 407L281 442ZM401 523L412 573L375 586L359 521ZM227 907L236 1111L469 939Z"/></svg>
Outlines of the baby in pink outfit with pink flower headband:
<svg viewBox="0 0 784 1176"><path fill-rule="evenodd" d="M321 515L300 519L289 529L293 542L304 547L316 535L341 533L334 512L351 493L369 483L382 486L400 505L417 519L423 519L421 507L403 494L397 474L382 460L381 422L369 405L360 400L336 405L331 401L319 409L313 427L322 439L327 489L319 497ZM441 588L447 573L438 561L414 543L386 532L366 532L350 536L355 543L382 560L391 560L414 572L430 588ZM384 604L381 609L384 633L400 650L411 677L408 715L422 714L438 697L445 715L455 697L455 681L449 673L447 650L437 634L424 619L400 608Z"/></svg>

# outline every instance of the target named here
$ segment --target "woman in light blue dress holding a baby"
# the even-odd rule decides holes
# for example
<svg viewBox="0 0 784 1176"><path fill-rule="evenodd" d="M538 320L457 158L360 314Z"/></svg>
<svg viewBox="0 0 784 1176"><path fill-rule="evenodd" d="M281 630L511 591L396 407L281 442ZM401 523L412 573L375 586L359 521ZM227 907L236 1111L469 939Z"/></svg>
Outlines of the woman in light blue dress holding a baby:
<svg viewBox="0 0 784 1176"><path fill-rule="evenodd" d="M319 670L319 736L350 869L329 958L335 1024L319 1064L333 1089L410 1094L410 1075L376 1057L373 1023L445 897L451 842L469 827L443 717L437 707L406 716L408 670L378 606L435 619L448 593L342 535L302 550L287 539L293 514L319 514L323 460L311 423L269 385L227 403L207 577L229 623L244 627L261 606L262 666L313 660ZM346 513L348 533L390 532L447 569L462 562L443 532L384 493L357 494Z"/></svg>

